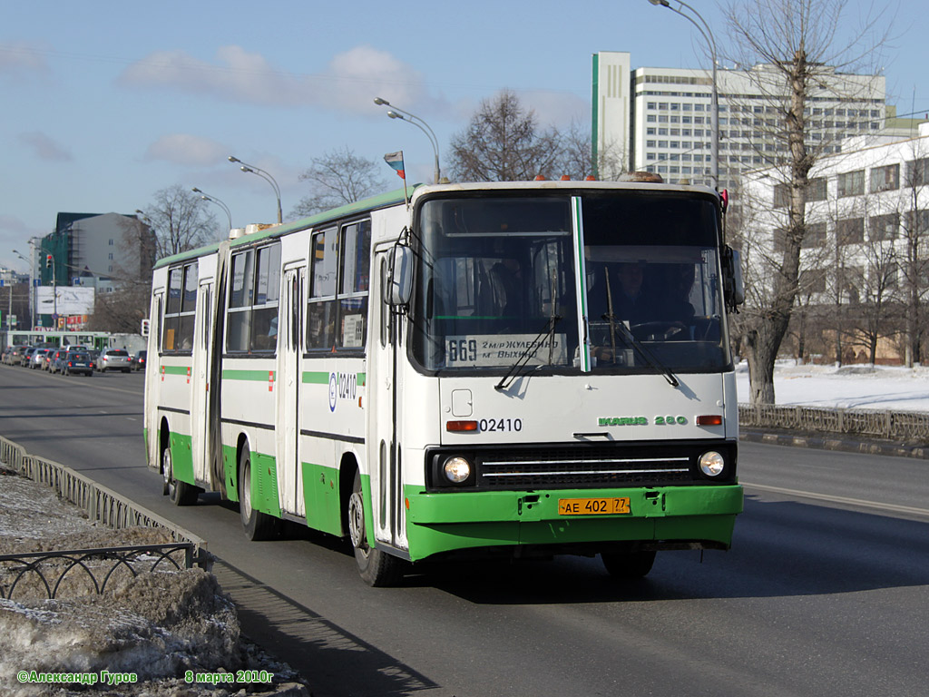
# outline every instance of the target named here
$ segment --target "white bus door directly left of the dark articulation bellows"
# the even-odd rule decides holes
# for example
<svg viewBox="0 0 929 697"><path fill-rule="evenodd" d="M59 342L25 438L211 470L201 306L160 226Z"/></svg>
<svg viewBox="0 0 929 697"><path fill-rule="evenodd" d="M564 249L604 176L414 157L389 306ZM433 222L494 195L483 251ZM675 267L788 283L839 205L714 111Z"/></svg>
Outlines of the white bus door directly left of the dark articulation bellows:
<svg viewBox="0 0 929 697"><path fill-rule="evenodd" d="M190 365L190 450L195 481L210 483L210 364L213 361L214 281L203 280L197 288L197 314Z"/></svg>

